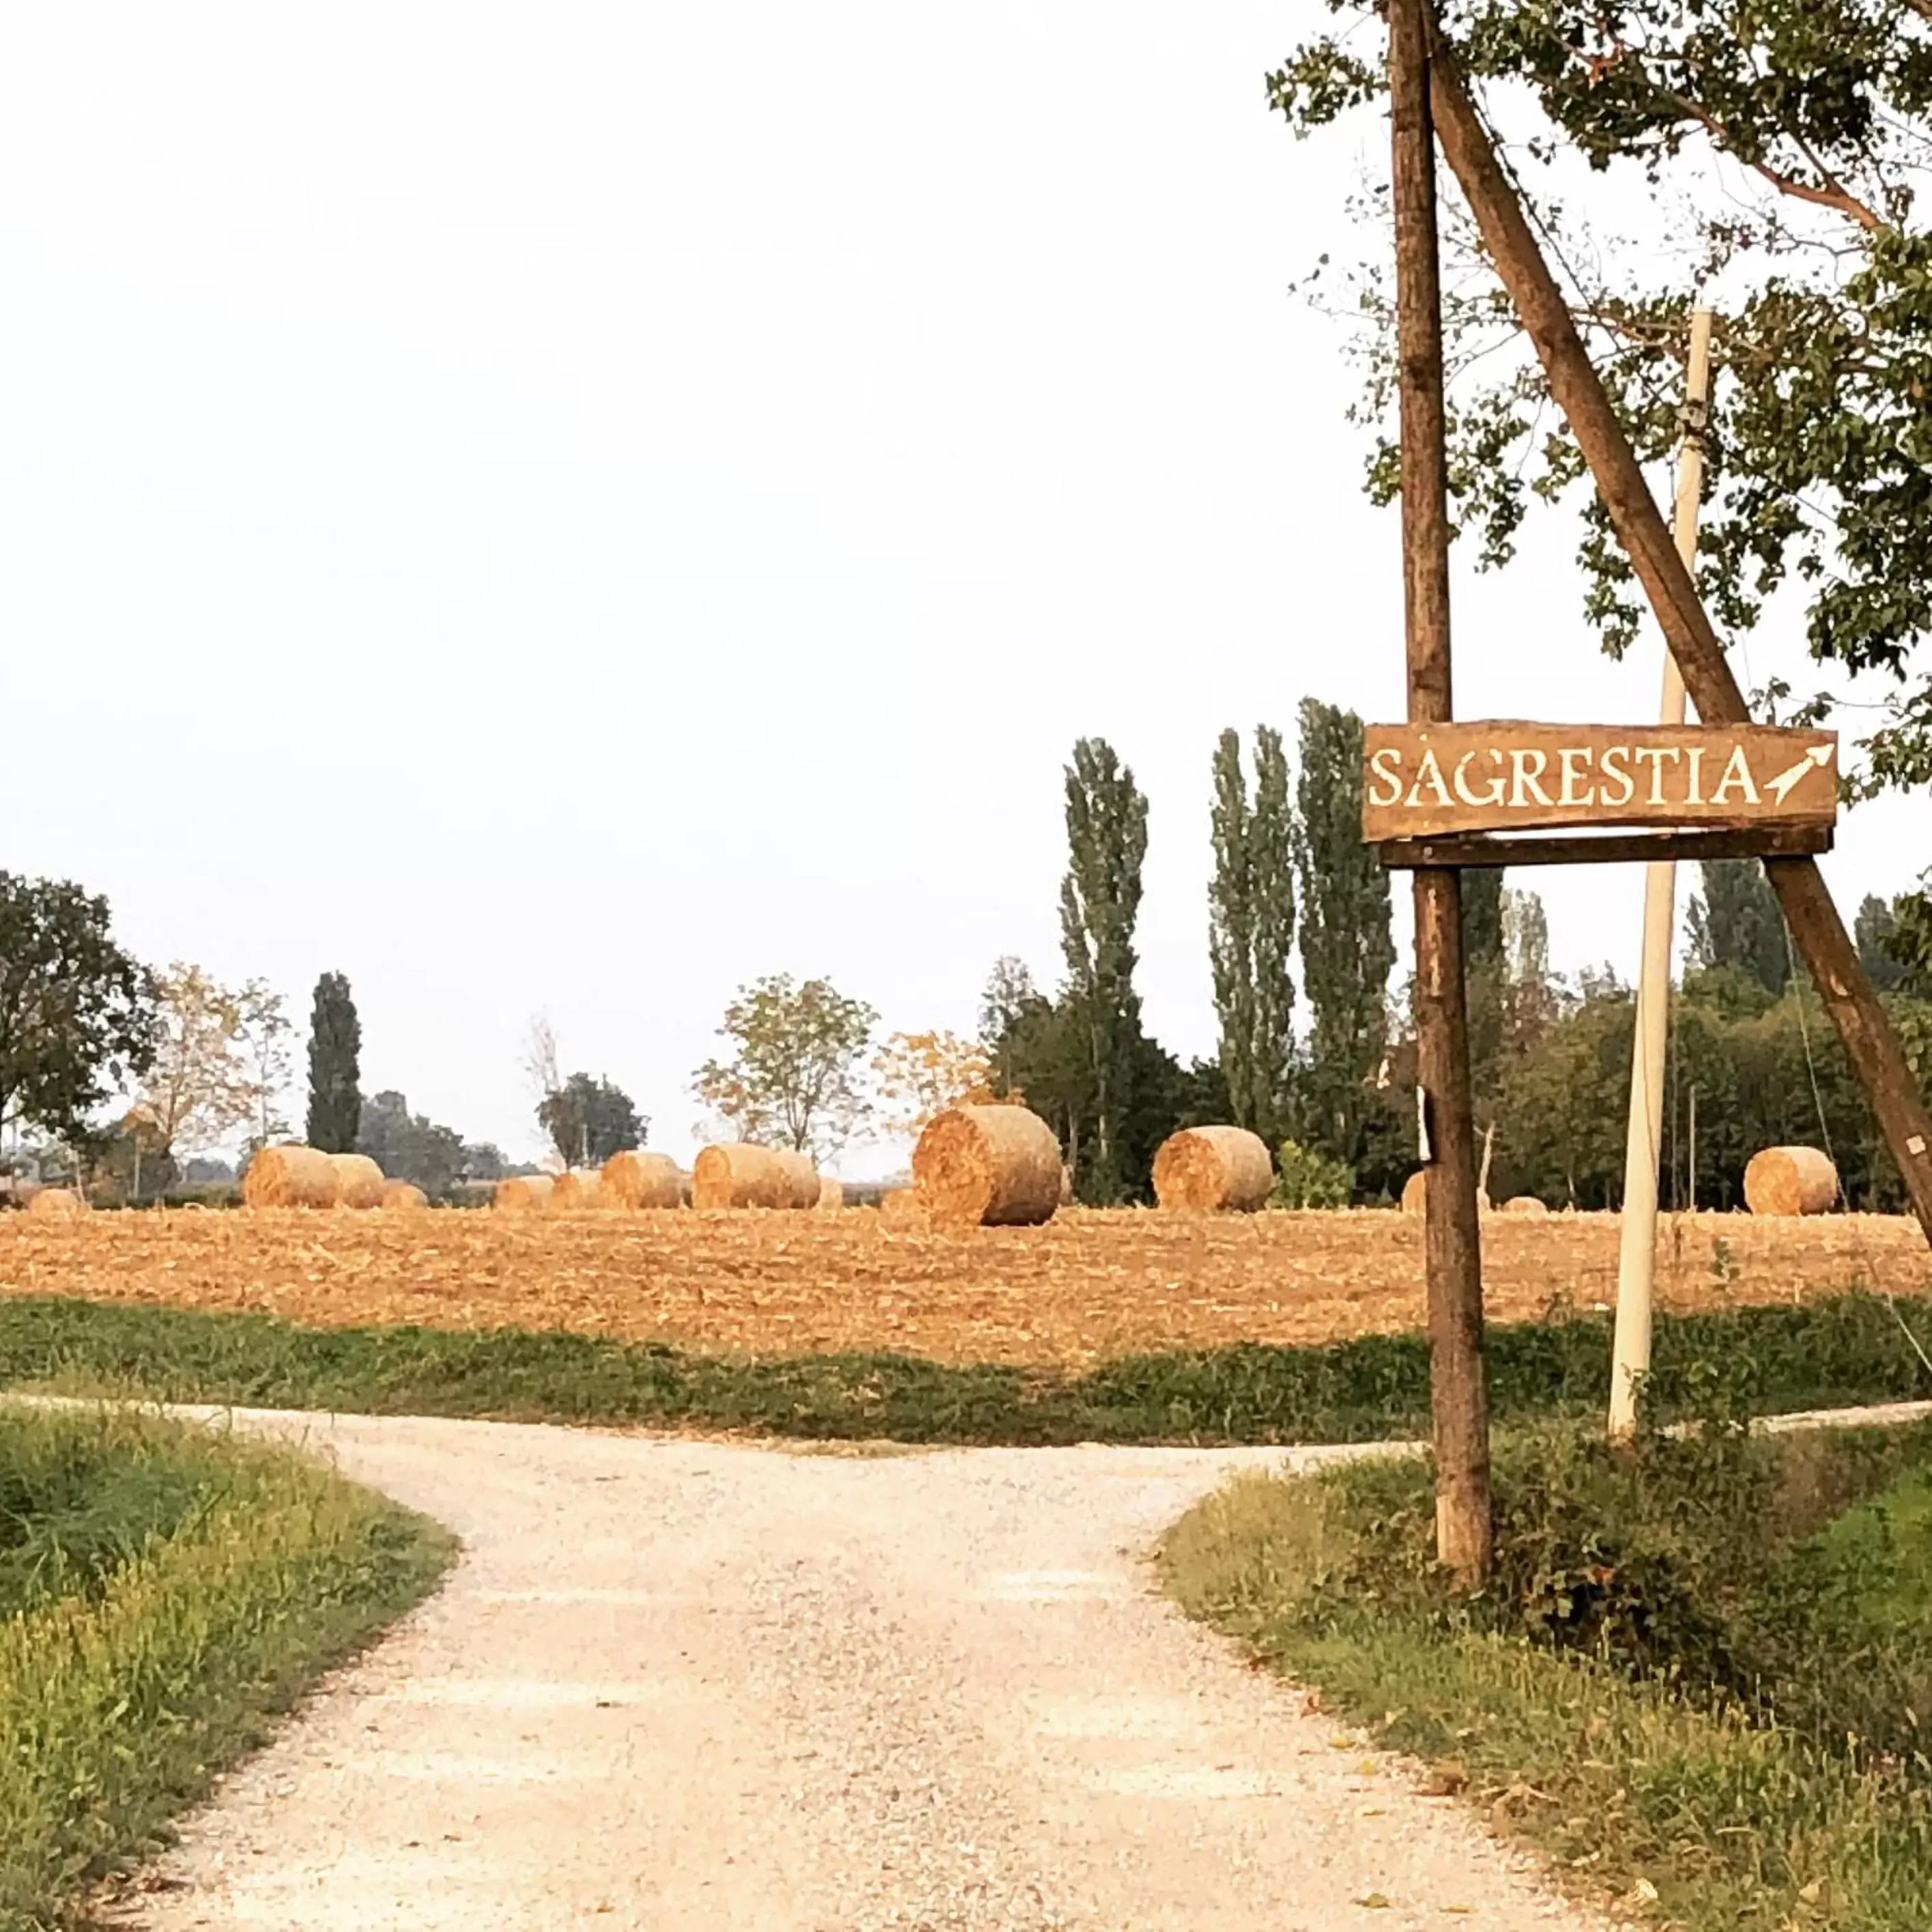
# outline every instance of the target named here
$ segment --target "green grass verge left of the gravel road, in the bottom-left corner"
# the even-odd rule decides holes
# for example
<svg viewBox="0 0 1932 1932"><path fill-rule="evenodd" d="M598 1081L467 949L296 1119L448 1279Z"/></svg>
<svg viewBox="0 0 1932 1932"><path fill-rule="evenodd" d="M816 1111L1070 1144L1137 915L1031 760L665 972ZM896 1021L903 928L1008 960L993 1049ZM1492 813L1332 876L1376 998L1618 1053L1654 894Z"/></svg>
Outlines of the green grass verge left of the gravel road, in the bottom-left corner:
<svg viewBox="0 0 1932 1932"><path fill-rule="evenodd" d="M91 1888L417 1602L450 1538L284 1451L0 1408L0 1932Z"/></svg>

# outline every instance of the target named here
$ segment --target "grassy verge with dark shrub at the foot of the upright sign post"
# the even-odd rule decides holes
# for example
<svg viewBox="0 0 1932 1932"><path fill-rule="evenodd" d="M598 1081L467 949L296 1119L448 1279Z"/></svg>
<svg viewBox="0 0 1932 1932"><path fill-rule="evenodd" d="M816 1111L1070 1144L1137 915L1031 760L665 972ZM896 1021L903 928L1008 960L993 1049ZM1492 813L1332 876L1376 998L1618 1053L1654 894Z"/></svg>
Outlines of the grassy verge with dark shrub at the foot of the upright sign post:
<svg viewBox="0 0 1932 1932"><path fill-rule="evenodd" d="M1169 1588L1633 1913L1932 1928L1932 1430L1497 1449L1482 1596L1439 1580L1422 1463L1246 1478L1169 1532Z"/></svg>

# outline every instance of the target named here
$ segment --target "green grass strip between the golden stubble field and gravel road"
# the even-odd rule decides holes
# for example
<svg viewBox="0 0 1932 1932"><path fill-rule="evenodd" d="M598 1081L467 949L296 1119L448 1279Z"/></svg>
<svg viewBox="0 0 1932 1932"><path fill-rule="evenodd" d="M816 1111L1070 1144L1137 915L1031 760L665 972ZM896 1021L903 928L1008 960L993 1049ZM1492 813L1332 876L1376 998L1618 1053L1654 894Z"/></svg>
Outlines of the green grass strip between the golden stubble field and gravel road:
<svg viewBox="0 0 1932 1932"><path fill-rule="evenodd" d="M1922 1304L1903 1308L1924 1316ZM1596 1414L1607 1374L1607 1316L1490 1329L1499 1420ZM1870 1294L1663 1316L1656 1410L1694 1408L1712 1383L1760 1410L1932 1397L1932 1374ZM1124 1356L1055 1374L898 1354L721 1356L518 1329L307 1329L60 1296L0 1298L0 1385L912 1443L1374 1441L1426 1434L1430 1412L1420 1335Z"/></svg>

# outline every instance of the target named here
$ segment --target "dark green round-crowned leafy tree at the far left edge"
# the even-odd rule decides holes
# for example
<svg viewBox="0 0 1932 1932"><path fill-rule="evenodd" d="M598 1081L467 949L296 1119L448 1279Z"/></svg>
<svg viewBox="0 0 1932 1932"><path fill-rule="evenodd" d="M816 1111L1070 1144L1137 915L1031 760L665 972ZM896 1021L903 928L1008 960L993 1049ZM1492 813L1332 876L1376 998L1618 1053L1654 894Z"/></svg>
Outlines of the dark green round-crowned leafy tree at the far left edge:
<svg viewBox="0 0 1932 1932"><path fill-rule="evenodd" d="M153 1057L153 980L116 945L108 902L0 871L0 1130L75 1136Z"/></svg>

